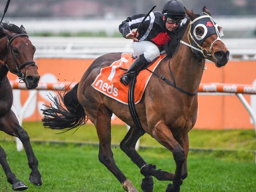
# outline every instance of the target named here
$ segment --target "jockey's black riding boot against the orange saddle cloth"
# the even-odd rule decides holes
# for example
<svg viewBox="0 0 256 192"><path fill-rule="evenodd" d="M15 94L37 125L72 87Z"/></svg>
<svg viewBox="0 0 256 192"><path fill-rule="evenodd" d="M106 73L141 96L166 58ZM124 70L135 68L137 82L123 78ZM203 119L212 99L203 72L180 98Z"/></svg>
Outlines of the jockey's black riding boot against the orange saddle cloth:
<svg viewBox="0 0 256 192"><path fill-rule="evenodd" d="M132 65L130 66L130 68L127 70L126 73L124 73L121 78L120 78L120 82L124 85L128 85L132 79L132 77L137 74L140 70L142 70L143 68L145 68L146 66L148 66L150 64L150 62L148 62L145 57L144 54L139 55L139 57L137 57L137 59L135 59L134 63L132 63Z"/></svg>

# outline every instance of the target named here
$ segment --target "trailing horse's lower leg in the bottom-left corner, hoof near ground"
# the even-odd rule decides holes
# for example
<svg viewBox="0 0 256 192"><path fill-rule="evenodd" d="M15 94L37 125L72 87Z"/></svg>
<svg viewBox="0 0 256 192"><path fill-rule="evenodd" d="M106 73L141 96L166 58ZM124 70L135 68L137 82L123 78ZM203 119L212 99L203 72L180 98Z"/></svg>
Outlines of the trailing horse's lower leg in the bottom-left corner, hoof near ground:
<svg viewBox="0 0 256 192"><path fill-rule="evenodd" d="M18 180L13 172L11 172L11 169L9 167L9 164L6 161L6 153L0 146L0 163L2 165L2 168L6 174L7 181L13 185L13 190L26 190L28 186L26 186L22 181Z"/></svg>

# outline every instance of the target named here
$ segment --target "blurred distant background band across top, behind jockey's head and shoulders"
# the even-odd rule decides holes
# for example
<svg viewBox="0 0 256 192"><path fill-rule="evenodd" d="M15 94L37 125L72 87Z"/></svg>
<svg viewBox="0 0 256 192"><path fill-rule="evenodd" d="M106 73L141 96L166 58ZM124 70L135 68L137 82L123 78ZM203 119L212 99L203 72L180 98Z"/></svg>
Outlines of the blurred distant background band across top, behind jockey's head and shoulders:
<svg viewBox="0 0 256 192"><path fill-rule="evenodd" d="M225 38L256 37L254 0L180 0L187 9L200 13L205 5L224 26ZM167 0L12 0L6 19L22 23L30 35L90 35L121 37L118 25L126 17L161 11ZM4 10L5 4L0 4Z"/></svg>

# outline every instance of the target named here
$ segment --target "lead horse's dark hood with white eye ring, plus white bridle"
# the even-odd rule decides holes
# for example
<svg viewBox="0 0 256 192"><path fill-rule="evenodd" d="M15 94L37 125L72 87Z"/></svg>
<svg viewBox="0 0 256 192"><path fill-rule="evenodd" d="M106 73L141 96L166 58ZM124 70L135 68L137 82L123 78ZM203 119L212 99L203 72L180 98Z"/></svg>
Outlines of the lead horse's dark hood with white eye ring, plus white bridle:
<svg viewBox="0 0 256 192"><path fill-rule="evenodd" d="M218 30L218 24L216 24L213 19L211 18L210 15L208 15L207 13L203 12L202 14L204 15L201 15L200 17L197 17L195 18L193 21L190 22L190 28L189 28L189 32L187 33L187 39L189 41L189 44L180 40L180 43L182 44L185 44L186 46L189 46L191 47L192 51L193 49L194 50L197 50L198 52L200 52L205 58L207 58L208 56L212 56L211 55L211 51L212 51L212 48L213 48L213 44L216 42L216 41L222 41L221 40L221 37L223 36L223 30L222 30L222 27L219 26L221 28L221 30L219 31ZM201 19L204 19L205 22L206 22L206 25L204 24L201 24L201 23L198 23L197 24L197 21L198 20L201 20ZM209 22L209 23L208 23ZM192 26L193 24L197 24L196 26ZM209 24L209 25L208 25ZM191 34L191 26L192 26L192 30L193 30L193 33ZM204 34L202 36L198 36L196 34L196 28L201 26L202 28L204 28ZM212 27L214 27L214 29L212 29ZM217 39L215 39L212 43L211 43L211 46L210 46L210 50L206 50L206 48L203 48L202 47L202 43L204 42L205 39L207 39L210 35L213 35L213 34L216 34L217 35ZM189 39L189 36L192 40L192 44L194 43L195 46L197 46L198 48L196 48L195 46L193 46L190 42L190 39ZM206 54L204 54L204 52L206 51ZM194 51L193 51L194 52Z"/></svg>

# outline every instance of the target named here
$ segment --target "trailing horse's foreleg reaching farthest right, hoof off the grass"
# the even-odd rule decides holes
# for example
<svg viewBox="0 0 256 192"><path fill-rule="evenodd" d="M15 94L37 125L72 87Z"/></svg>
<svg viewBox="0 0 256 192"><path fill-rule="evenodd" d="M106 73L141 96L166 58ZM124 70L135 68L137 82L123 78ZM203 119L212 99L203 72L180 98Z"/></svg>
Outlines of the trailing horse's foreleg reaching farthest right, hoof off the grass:
<svg viewBox="0 0 256 192"><path fill-rule="evenodd" d="M10 111L6 116L1 118L0 124L2 131L21 140L28 157L28 165L31 168L30 183L38 186L42 185L41 174L38 170L38 161L30 144L30 138L28 137L28 133L19 125L15 114Z"/></svg>

